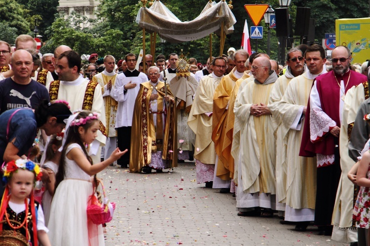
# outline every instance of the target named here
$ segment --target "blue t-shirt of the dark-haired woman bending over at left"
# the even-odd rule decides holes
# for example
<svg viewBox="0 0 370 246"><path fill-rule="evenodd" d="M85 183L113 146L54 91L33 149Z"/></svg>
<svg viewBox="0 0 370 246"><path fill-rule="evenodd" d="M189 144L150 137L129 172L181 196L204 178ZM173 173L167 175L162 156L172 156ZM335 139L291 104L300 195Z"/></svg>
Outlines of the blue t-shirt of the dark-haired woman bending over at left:
<svg viewBox="0 0 370 246"><path fill-rule="evenodd" d="M7 145L6 128L11 114L17 109L10 109L0 115L0 165ZM27 154L37 136L35 113L29 108L20 109L10 120L8 142L14 138L14 146L19 149L18 155Z"/></svg>

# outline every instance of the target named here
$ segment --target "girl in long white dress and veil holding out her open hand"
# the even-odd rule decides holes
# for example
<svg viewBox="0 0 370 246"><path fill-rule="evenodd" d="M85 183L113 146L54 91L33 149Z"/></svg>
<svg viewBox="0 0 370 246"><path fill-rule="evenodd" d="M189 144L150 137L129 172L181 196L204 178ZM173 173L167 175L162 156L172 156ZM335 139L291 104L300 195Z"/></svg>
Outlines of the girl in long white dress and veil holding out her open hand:
<svg viewBox="0 0 370 246"><path fill-rule="evenodd" d="M98 118L97 113L81 111L67 121L48 223L53 246L104 245L102 226L93 224L86 214L91 203L89 197L97 185L94 175L120 158L127 149L116 148L108 159L92 165L85 144L97 137Z"/></svg>

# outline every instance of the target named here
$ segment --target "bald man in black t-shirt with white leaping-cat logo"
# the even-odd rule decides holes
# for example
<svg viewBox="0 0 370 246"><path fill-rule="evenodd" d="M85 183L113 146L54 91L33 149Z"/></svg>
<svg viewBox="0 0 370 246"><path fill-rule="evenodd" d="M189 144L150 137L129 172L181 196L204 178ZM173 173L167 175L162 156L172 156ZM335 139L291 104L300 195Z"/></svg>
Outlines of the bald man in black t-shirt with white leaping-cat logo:
<svg viewBox="0 0 370 246"><path fill-rule="evenodd" d="M11 58L13 76L0 83L0 113L17 107L35 108L49 94L41 84L31 78L34 67L31 54L17 50Z"/></svg>

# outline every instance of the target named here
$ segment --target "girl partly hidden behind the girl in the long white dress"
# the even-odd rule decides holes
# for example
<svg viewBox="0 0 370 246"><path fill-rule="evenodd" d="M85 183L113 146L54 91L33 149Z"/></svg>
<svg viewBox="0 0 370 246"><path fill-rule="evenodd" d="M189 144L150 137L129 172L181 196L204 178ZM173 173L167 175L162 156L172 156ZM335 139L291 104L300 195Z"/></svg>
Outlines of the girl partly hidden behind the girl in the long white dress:
<svg viewBox="0 0 370 246"><path fill-rule="evenodd" d="M55 174L58 172L58 164L62 153L58 149L62 146L64 133L54 134L44 151L45 162L42 168L48 171L50 182L43 184L45 191L42 195L42 208L45 215L45 225L49 223L51 200L55 189Z"/></svg>

